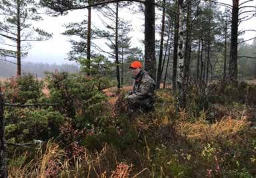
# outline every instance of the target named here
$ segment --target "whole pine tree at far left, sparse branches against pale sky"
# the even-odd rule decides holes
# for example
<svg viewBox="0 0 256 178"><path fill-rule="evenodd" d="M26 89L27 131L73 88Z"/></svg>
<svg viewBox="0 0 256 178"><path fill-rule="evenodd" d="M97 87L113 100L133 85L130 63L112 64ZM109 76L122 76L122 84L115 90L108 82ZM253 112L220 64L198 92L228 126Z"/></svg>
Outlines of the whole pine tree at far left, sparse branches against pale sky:
<svg viewBox="0 0 256 178"><path fill-rule="evenodd" d="M17 75L21 75L21 58L27 56L31 47L29 42L45 41L51 34L32 26L32 21L41 21L39 6L34 0L0 1L0 37L3 39L2 50L5 56L17 59Z"/></svg>

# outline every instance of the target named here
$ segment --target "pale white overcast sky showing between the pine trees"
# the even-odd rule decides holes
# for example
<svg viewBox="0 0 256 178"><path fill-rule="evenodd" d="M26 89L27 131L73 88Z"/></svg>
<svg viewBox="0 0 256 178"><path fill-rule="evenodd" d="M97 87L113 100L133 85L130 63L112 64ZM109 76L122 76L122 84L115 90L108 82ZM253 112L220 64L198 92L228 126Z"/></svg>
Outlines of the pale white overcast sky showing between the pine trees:
<svg viewBox="0 0 256 178"><path fill-rule="evenodd" d="M244 2L245 0L240 0L240 3ZM232 3L232 0L223 0L220 1L221 3ZM253 0L248 5L256 5L256 0ZM45 31L49 33L53 33L53 38L49 41L42 41L32 43L33 48L29 50L29 55L27 58L24 58L23 61L33 61L33 62L45 62L45 63L67 63L67 52L71 50L71 44L69 43L70 37L65 37L61 35L65 28L63 27L64 24L70 22L80 22L86 18L87 9L83 10L76 10L70 12L68 15L59 16L59 17L49 17L47 15L43 15L43 21L40 21L36 24L37 27L41 27L45 29ZM143 13L133 14L129 12L127 9L122 10L119 12L120 17L123 17L126 21L131 21L133 25L133 31L130 34L132 37L131 45L138 46L143 49L143 44L140 42L144 39L143 35L143 24L144 24L144 17ZM91 15L92 25L95 27L101 27L101 21L99 18L99 14L96 10L92 9ZM256 19L253 18L250 21L246 21L241 23L239 26L239 30L245 29L254 29L256 30ZM250 39L255 37L255 32L247 32L243 38ZM105 45L102 41L95 41L99 46L105 48ZM143 49L144 50L144 49Z"/></svg>

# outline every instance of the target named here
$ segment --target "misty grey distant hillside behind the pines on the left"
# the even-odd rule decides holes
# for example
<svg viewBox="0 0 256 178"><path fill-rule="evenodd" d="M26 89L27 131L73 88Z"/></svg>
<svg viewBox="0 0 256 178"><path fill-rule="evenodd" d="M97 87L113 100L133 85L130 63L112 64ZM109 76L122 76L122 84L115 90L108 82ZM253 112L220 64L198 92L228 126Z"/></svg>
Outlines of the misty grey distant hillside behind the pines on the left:
<svg viewBox="0 0 256 178"><path fill-rule="evenodd" d="M45 64L45 63L33 63L33 62L23 62L21 64L22 72L30 72L31 74L36 74L38 77L43 77L45 71L54 72L66 71L70 73L79 72L79 66L75 64ZM0 77L15 76L17 71L17 66L9 62L0 60Z"/></svg>

